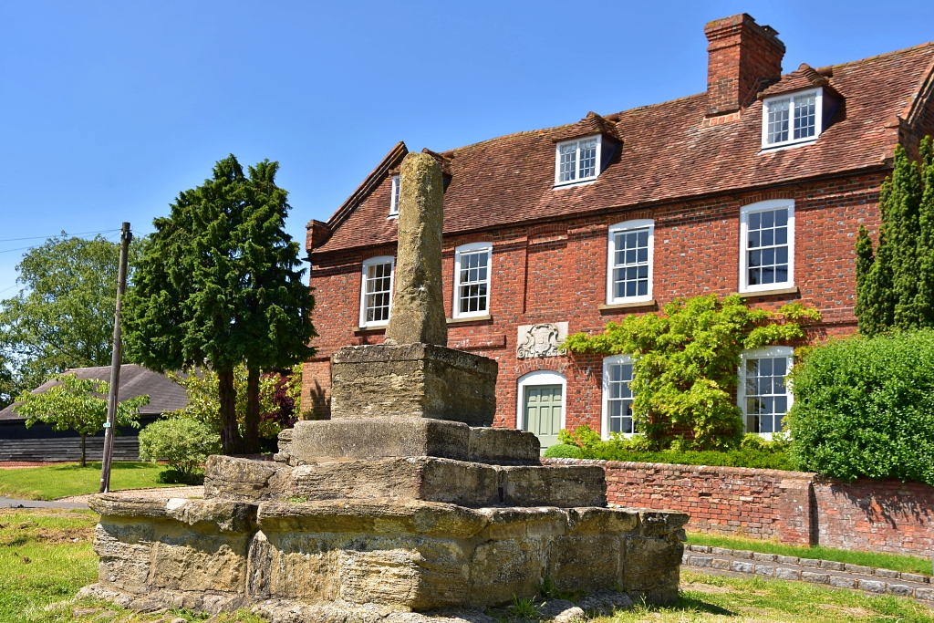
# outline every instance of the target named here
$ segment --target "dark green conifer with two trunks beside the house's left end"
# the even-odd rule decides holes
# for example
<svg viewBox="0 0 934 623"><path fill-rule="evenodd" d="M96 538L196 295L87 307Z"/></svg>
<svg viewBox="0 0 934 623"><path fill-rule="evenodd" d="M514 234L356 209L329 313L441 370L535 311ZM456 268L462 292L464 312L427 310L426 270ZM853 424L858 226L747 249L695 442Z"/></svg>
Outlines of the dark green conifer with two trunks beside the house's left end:
<svg viewBox="0 0 934 623"><path fill-rule="evenodd" d="M287 193L277 163L249 167L233 154L213 177L181 192L142 253L125 300L129 356L154 370L208 365L218 375L220 439L227 454L259 447L260 374L314 353L314 298L299 247L284 231ZM241 434L233 370L248 367Z"/></svg>

